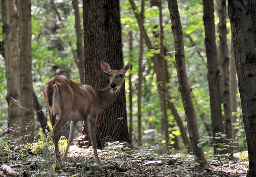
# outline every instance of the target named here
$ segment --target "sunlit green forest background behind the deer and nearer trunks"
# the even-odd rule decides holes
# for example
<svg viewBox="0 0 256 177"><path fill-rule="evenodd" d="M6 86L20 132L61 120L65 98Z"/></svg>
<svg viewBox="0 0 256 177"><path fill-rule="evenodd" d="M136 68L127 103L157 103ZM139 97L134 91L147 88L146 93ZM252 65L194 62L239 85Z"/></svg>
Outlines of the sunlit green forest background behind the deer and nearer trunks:
<svg viewBox="0 0 256 177"><path fill-rule="evenodd" d="M54 75L65 75L78 83L84 82L81 80L82 74L79 69L79 30L76 31L75 28L72 2L74 3L71 0L31 1L32 83L35 103L41 108L36 108L37 111L34 113L38 132L44 132L46 126L44 121L47 117L47 106L42 94L45 83ZM223 131L217 132L213 129L216 127L212 125L211 117L214 113L211 114L204 5L200 0L180 0L178 5L184 36L186 72L201 135L199 146L203 147L208 155L228 153L230 157L246 151L247 144L237 78L234 73L236 68L230 21L227 15L223 21L223 9L217 2L214 1L214 24L218 54L214 57L219 58L220 73L217 77L222 80L219 83L222 122L218 123L223 126ZM78 1L78 7L82 24L82 1ZM144 12L143 15L141 12ZM140 1L121 0L120 15L123 60L124 63L130 62L132 65L125 79L127 119L132 147L150 147L152 152L159 155L168 151L189 153L191 147L186 141L188 128L177 78L174 58L176 51L168 3L146 0L142 4ZM223 33L223 26L226 33ZM0 141L6 141L10 138L6 137L10 129L5 128L9 126L2 34L0 28ZM224 36L225 46L221 42ZM226 53L222 52L223 50L226 50ZM163 57L154 59L158 54L163 54ZM224 54L227 56L223 57ZM228 58L228 65L221 60L225 57ZM228 88L225 84L227 78ZM228 97L227 92L230 93ZM214 123L216 125L216 122ZM48 119L47 124L50 125ZM47 129L50 131L51 127ZM80 135L81 129L82 123L77 127L76 137ZM62 135L68 136L66 130L68 129L65 128Z"/></svg>

